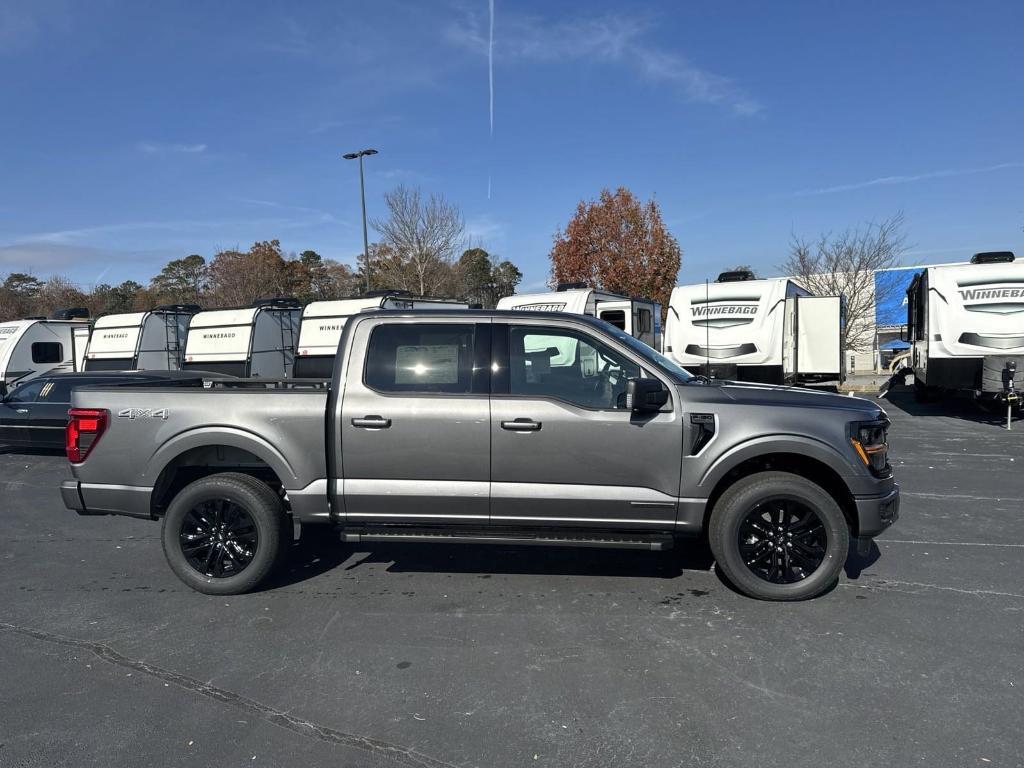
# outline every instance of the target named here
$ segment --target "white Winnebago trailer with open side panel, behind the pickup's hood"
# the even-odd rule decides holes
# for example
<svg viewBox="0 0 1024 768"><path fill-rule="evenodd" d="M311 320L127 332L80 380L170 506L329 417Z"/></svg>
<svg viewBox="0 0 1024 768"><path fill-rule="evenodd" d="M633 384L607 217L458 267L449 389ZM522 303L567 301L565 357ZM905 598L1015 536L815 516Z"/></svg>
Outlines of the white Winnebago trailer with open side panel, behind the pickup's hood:
<svg viewBox="0 0 1024 768"><path fill-rule="evenodd" d="M842 379L841 296L742 270L672 291L665 353L710 378L783 384Z"/></svg>

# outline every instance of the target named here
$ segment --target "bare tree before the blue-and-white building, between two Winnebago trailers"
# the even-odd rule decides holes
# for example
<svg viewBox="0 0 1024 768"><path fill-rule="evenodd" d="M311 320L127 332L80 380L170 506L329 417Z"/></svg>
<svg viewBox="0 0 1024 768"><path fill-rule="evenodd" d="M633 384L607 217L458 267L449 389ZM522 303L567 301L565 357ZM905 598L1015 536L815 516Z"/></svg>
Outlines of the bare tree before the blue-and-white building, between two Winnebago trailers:
<svg viewBox="0 0 1024 768"><path fill-rule="evenodd" d="M846 296L843 349L862 352L871 348L874 307L900 290L891 281L876 286L874 273L899 265L907 249L903 225L900 212L839 234L826 232L813 243L793 236L790 257L778 268L811 293Z"/></svg>

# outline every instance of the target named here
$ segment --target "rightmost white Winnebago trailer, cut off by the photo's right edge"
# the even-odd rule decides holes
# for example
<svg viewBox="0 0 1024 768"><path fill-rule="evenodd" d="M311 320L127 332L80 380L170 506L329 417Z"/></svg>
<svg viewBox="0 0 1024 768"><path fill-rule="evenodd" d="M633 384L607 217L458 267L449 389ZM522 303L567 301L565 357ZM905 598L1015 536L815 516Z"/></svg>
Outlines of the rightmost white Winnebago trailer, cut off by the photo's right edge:
<svg viewBox="0 0 1024 768"><path fill-rule="evenodd" d="M1009 251L978 253L967 264L924 268L906 294L919 399L942 390L1010 394L1014 370L1024 372L1024 262Z"/></svg>

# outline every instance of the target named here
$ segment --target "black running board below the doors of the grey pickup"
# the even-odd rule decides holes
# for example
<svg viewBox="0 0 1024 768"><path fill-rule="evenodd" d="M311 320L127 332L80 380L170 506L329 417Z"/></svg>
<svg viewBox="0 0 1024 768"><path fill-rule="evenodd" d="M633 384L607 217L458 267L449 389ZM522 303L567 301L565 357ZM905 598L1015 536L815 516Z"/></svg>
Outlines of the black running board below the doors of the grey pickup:
<svg viewBox="0 0 1024 768"><path fill-rule="evenodd" d="M443 534L424 530L360 530L342 531L341 541L347 544L362 542L415 542L418 544L514 544L527 547L592 547L598 549L640 549L648 552L664 552L672 549L672 536L610 536L580 535L553 536L550 534L530 536L500 534Z"/></svg>

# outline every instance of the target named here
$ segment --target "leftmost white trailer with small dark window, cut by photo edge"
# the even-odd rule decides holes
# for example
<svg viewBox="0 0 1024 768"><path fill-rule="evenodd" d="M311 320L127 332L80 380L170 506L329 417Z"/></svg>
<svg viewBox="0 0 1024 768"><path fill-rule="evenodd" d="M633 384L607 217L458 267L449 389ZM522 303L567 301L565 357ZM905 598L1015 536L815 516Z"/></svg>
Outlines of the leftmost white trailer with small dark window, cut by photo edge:
<svg viewBox="0 0 1024 768"><path fill-rule="evenodd" d="M58 309L53 317L0 323L0 382L12 384L51 371L80 371L89 342L89 310Z"/></svg>

